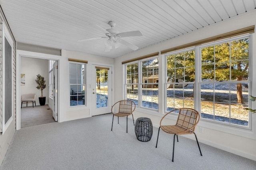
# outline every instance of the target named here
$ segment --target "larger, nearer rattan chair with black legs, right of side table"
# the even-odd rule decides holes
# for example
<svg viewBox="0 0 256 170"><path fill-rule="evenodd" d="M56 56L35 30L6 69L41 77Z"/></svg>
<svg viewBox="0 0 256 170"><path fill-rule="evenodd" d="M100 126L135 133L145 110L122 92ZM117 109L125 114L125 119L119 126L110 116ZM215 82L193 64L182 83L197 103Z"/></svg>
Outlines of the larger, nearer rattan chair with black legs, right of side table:
<svg viewBox="0 0 256 170"><path fill-rule="evenodd" d="M173 113L173 112L177 112L177 111L179 111L179 115L178 115L176 125L162 125L162 121L164 120L164 118L167 115L169 115L170 113ZM178 141L178 135L186 135L186 134L194 133L195 127L198 124L199 120L200 120L200 115L199 115L198 111L196 111L195 109L191 109L191 108L174 109L174 110L170 111L169 113L166 113L160 121L160 127L158 129L158 135L157 135L157 140L156 140L156 148L157 148L160 128L166 133L174 134L173 150L172 150L172 162L173 162L175 136L177 135L177 141ZM196 137L196 133L194 133L194 135ZM201 152L197 137L196 137L196 142L197 142L200 154L202 156L202 152Z"/></svg>

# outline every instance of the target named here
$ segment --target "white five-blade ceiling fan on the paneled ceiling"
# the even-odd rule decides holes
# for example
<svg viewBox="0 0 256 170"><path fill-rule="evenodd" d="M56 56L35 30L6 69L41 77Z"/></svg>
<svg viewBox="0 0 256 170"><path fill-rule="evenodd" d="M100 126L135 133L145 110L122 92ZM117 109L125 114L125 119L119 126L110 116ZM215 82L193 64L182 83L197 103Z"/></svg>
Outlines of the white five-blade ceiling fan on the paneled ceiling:
<svg viewBox="0 0 256 170"><path fill-rule="evenodd" d="M129 32L122 32L118 33L118 30L114 28L116 23L114 21L109 21L108 25L110 25L110 29L104 29L96 24L90 24L93 27L96 27L97 29L100 29L105 33L105 37L94 37L94 38L88 38L88 39L80 39L78 41L90 41L94 39L107 39L105 43L105 51L110 51L111 49L117 49L121 45L124 45L126 47L129 47L130 49L133 49L134 51L138 49L136 45L133 45L129 43L128 41L125 41L124 39L121 39L122 37L134 37L134 36L142 36L142 33L140 31L129 31Z"/></svg>

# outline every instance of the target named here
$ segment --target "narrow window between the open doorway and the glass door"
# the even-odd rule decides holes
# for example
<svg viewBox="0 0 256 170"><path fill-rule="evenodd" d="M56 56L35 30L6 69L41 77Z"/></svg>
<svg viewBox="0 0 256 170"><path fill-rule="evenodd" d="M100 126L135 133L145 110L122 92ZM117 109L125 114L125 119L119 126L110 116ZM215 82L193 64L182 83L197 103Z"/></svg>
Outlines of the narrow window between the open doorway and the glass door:
<svg viewBox="0 0 256 170"><path fill-rule="evenodd" d="M69 63L70 106L86 104L85 64Z"/></svg>

